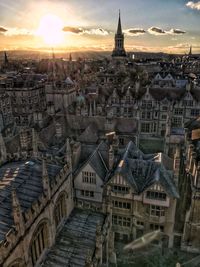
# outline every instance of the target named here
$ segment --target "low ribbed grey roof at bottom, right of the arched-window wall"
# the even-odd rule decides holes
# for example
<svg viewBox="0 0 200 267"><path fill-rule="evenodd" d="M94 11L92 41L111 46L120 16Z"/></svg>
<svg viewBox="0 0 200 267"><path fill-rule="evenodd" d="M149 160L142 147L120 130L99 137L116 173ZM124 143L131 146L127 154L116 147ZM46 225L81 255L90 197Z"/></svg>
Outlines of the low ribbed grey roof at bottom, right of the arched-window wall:
<svg viewBox="0 0 200 267"><path fill-rule="evenodd" d="M41 266L85 266L88 251L95 251L97 223L102 226L104 219L102 213L74 209Z"/></svg>

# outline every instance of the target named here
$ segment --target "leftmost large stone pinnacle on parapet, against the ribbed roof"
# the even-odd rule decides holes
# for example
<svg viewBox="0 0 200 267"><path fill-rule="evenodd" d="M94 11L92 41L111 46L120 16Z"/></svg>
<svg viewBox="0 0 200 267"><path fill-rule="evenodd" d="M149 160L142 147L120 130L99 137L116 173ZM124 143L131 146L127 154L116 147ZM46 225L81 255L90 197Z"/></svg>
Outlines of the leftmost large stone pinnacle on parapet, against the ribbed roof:
<svg viewBox="0 0 200 267"><path fill-rule="evenodd" d="M15 189L12 190L12 209L16 229L20 233L20 235L23 236L25 231L24 217Z"/></svg>

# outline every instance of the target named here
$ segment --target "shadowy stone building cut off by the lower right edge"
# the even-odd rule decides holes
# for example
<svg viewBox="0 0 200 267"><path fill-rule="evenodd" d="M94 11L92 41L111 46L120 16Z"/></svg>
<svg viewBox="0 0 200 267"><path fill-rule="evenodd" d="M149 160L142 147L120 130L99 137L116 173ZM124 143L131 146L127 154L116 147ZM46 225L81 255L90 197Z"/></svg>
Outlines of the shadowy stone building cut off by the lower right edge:
<svg viewBox="0 0 200 267"><path fill-rule="evenodd" d="M200 251L200 122L199 118L186 125L185 146L179 149L180 202L177 205L177 245L190 252Z"/></svg>

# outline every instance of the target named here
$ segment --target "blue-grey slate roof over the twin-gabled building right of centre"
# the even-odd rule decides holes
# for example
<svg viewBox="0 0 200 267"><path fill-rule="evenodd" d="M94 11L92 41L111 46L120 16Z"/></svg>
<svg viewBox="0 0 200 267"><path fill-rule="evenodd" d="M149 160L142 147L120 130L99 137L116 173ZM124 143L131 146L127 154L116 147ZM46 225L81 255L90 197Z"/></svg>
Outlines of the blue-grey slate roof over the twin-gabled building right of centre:
<svg viewBox="0 0 200 267"><path fill-rule="evenodd" d="M178 198L172 173L165 169L159 159L161 153L145 155L133 142L129 142L115 174L121 174L137 194L158 182L169 196Z"/></svg>

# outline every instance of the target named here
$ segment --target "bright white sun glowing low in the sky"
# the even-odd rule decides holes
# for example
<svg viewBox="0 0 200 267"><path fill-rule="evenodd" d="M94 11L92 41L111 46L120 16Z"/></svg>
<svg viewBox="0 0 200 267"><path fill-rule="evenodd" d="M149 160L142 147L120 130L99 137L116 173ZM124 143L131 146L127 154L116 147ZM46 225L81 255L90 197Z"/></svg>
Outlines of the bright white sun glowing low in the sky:
<svg viewBox="0 0 200 267"><path fill-rule="evenodd" d="M64 41L64 32L62 29L62 20L56 15L47 14L41 18L36 33L43 38L47 45L57 46Z"/></svg>

